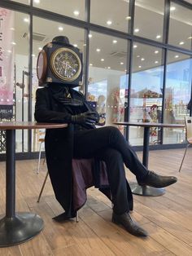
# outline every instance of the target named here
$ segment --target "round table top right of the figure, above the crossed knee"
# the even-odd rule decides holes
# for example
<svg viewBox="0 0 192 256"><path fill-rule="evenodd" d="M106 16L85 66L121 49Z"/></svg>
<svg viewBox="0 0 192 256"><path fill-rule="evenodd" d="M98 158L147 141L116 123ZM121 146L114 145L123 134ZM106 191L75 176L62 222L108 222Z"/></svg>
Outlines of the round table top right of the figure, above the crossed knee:
<svg viewBox="0 0 192 256"><path fill-rule="evenodd" d="M159 122L132 122L132 121L116 121L114 125L119 126L142 126L142 127L169 127L169 128L184 128L185 125L181 124L166 124Z"/></svg>

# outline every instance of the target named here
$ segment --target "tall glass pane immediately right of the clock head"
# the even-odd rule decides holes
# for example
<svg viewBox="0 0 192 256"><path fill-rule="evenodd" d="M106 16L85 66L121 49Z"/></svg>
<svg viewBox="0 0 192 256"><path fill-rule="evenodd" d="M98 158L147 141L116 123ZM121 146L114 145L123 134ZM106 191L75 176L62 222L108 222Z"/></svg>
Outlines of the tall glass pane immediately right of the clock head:
<svg viewBox="0 0 192 256"><path fill-rule="evenodd" d="M128 97L128 42L100 33L90 34L88 100L100 114L100 125L108 126L114 121L124 121Z"/></svg>

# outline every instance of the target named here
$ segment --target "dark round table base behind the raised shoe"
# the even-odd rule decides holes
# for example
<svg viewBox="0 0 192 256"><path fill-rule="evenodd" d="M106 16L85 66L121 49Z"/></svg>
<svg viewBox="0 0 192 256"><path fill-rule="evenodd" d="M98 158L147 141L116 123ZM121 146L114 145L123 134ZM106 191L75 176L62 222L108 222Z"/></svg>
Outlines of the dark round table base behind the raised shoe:
<svg viewBox="0 0 192 256"><path fill-rule="evenodd" d="M138 183L130 183L133 194L139 196L161 196L164 195L164 188L152 188L149 186L140 186Z"/></svg>

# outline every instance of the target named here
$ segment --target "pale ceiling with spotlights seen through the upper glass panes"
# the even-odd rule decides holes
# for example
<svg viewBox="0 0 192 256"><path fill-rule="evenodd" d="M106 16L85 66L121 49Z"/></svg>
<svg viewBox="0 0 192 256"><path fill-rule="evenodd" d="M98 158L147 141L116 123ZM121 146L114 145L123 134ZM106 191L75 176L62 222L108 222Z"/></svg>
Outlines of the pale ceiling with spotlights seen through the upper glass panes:
<svg viewBox="0 0 192 256"><path fill-rule="evenodd" d="M27 0L23 2L26 3ZM98 2L102 4L102 8L99 8L99 10ZM117 2L120 9L114 10L116 8L111 8L111 10L108 11L109 7L112 7L113 5L114 7L117 6ZM104 2L103 0L92 0L91 22L107 26L107 19L113 19L113 21L115 22L113 22L112 26L109 26L110 28L118 29L120 31L127 31L129 20L125 20L124 18L129 13L127 2L128 1L124 0L106 0ZM137 6L135 8L136 18L134 29L139 28L139 32L135 33L136 35L144 38L150 38L158 42L162 41L162 38L156 39L155 37L158 33L163 33L163 2L164 0L136 0ZM188 2L192 3L192 0ZM57 1L57 3L57 5L55 4L55 8L63 7L63 1L60 0ZM67 9L67 14L71 16L72 11L74 11L74 6L76 6L75 3L78 7L81 6L79 8L81 15L78 16L78 19L82 20L82 17L84 16L84 11L82 8L84 7L84 0L71 0L65 2L65 4L67 3L68 5L65 6L66 8L63 9ZM191 37L192 32L192 11L189 9L184 9L183 7L179 7L178 5L174 6L176 7L176 10L175 12L171 12L169 42L175 46L180 46L180 42L185 42L180 47L190 49L191 38L188 38ZM38 5L38 7L40 6ZM41 7L46 9L52 7L53 9L53 2L50 0L41 0ZM59 10L62 10L62 8L59 8ZM67 14L64 13L64 15ZM28 55L29 24L28 22L24 22L24 18L28 18L28 16L19 12L15 12L15 52L22 55ZM63 31L59 31L59 27L63 27ZM176 29L177 33L175 33ZM92 35L92 38L89 38L89 64L93 64L93 66L95 67L111 68L114 70L120 70L122 72L125 72L125 69L127 68L127 42L123 39L113 38L111 36L107 36L101 33L94 33L92 31L90 31L90 33ZM34 17L33 54L37 57L38 51L40 51L39 47L44 46L46 42L50 42L52 38L58 35L68 36L72 44L76 44L78 48L81 49L81 51L85 52L86 46L84 41L85 35L83 29L78 29L70 25ZM114 40L116 40L116 43L114 43ZM137 42L135 42L133 45L135 47L133 48L133 71L154 68L162 64L161 49L153 46L146 46L141 43L139 44ZM97 51L97 49L100 49L100 51ZM159 52L155 54L155 51ZM176 55L179 55L177 57L177 60L175 59ZM185 58L189 58L189 56L172 53L172 55L170 54L169 61L174 62ZM104 60L102 61L102 59Z"/></svg>

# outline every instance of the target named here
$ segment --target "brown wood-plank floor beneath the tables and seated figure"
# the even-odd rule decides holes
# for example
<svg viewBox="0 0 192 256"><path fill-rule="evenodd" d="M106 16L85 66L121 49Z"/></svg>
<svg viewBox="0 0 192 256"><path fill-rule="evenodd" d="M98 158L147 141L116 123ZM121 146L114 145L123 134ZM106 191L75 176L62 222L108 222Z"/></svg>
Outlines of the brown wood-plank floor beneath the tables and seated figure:
<svg viewBox="0 0 192 256"><path fill-rule="evenodd" d="M178 182L166 188L164 196L134 196L133 218L149 232L137 238L111 223L111 203L98 190L89 188L88 201L80 210L80 221L55 223L62 213L50 180L41 202L37 195L46 174L46 165L36 174L37 160L16 162L16 210L32 211L44 219L45 228L21 245L0 248L0 255L192 255L192 148L181 173L178 168L184 149L150 152L150 169L173 174ZM138 153L141 157L141 153ZM134 176L126 171L128 179ZM0 162L0 214L5 213L5 162Z"/></svg>

